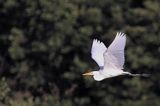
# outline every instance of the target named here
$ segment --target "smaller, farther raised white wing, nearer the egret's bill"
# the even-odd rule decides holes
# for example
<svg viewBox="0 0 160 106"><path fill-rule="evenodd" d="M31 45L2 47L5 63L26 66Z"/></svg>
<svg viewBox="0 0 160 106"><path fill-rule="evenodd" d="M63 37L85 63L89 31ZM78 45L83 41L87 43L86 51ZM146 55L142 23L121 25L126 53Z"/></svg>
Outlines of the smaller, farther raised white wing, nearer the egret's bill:
<svg viewBox="0 0 160 106"><path fill-rule="evenodd" d="M96 61L96 63L99 65L99 67L104 66L104 57L103 54L107 50L106 46L103 44L103 42L100 42L97 39L93 40L92 49L91 49L91 56L92 59Z"/></svg>

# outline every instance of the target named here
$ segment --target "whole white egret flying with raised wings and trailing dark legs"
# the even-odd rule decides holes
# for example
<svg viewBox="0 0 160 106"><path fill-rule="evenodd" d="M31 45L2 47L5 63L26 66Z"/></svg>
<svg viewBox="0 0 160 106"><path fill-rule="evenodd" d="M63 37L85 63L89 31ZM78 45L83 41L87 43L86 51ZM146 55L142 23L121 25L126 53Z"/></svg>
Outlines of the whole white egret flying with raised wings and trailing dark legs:
<svg viewBox="0 0 160 106"><path fill-rule="evenodd" d="M94 39L91 48L91 57L99 65L99 70L87 72L83 75L93 76L96 81L119 75L147 76L148 74L132 74L123 71L125 45L126 34L122 32L117 32L115 39L108 48L106 48L103 42Z"/></svg>

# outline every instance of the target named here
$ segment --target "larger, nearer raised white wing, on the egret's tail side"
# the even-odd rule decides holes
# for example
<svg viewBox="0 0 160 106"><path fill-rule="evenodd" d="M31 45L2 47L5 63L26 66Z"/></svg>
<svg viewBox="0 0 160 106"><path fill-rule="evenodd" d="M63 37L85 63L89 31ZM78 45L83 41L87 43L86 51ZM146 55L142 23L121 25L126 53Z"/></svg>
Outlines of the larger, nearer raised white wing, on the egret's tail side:
<svg viewBox="0 0 160 106"><path fill-rule="evenodd" d="M123 69L126 35L118 32L114 41L104 53L105 67Z"/></svg>

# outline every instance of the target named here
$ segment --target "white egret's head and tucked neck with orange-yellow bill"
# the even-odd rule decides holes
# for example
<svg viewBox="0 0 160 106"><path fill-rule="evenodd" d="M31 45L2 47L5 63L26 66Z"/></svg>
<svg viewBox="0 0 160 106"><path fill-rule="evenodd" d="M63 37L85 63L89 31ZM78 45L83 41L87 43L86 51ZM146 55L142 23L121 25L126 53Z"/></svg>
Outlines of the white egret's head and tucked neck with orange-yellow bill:
<svg viewBox="0 0 160 106"><path fill-rule="evenodd" d="M100 74L99 71L91 71L91 72L84 73L82 75L93 76L94 80L96 80L96 81L101 81L101 80L105 79L105 77L102 74Z"/></svg>

